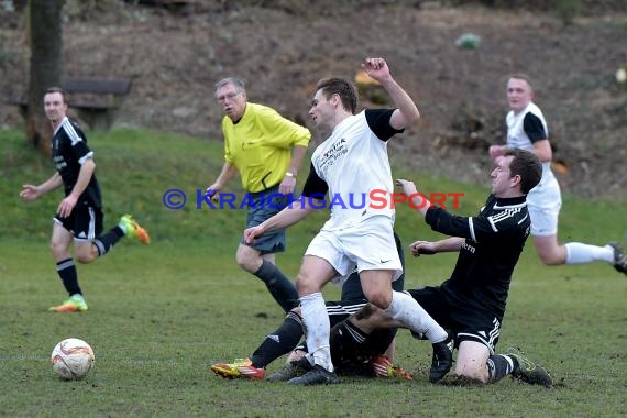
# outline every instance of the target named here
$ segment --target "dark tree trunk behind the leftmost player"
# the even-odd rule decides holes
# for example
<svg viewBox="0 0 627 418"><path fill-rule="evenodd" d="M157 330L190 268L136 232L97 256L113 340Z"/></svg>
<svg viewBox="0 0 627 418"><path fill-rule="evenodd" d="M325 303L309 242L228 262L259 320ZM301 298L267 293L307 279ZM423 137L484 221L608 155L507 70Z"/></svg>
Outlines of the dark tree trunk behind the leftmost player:
<svg viewBox="0 0 627 418"><path fill-rule="evenodd" d="M65 0L29 0L28 19L31 59L26 138L50 155L52 128L45 117L43 97L51 86L61 85L63 73L62 10Z"/></svg>

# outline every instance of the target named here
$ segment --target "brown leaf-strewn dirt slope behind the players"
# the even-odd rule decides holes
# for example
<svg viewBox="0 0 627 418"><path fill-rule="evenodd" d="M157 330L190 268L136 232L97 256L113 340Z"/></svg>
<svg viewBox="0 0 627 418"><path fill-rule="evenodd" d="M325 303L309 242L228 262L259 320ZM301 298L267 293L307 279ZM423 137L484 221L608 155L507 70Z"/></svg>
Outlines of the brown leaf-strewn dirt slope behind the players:
<svg viewBox="0 0 627 418"><path fill-rule="evenodd" d="M627 85L615 80L616 69L627 66L625 12L564 28L552 14L410 1L301 11L233 3L187 13L120 2L97 13L68 12L65 72L132 77L119 125L220 140L212 100L218 79L243 77L252 101L309 123L319 78L353 77L365 56L384 56L424 114L394 142L391 157L473 182L487 173L487 144L503 141L505 77L522 72L535 79L563 189L627 196ZM23 15L4 13L0 21L1 91L15 96L28 74ZM463 33L481 36L481 46L455 46ZM377 98L366 91L362 105ZM16 123L15 109L2 106L0 125Z"/></svg>

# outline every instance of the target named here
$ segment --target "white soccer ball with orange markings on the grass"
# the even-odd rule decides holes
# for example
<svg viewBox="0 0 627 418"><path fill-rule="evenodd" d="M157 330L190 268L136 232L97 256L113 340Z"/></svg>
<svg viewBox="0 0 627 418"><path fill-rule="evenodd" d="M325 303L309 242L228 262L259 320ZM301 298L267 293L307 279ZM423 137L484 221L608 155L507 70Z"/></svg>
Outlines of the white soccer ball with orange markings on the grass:
<svg viewBox="0 0 627 418"><path fill-rule="evenodd" d="M91 346L77 338L63 340L51 355L53 370L64 381L85 377L94 367L95 360Z"/></svg>

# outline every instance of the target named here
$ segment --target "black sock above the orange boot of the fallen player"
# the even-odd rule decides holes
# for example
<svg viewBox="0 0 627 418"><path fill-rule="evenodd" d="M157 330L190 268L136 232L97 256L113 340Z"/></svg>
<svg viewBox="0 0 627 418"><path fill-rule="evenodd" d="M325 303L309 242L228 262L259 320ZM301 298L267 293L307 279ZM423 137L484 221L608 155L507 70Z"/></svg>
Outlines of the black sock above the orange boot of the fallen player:
<svg viewBox="0 0 627 418"><path fill-rule="evenodd" d="M288 312L283 324L266 336L255 350L251 361L255 367L265 367L276 359L289 353L302 337L302 319L295 312Z"/></svg>

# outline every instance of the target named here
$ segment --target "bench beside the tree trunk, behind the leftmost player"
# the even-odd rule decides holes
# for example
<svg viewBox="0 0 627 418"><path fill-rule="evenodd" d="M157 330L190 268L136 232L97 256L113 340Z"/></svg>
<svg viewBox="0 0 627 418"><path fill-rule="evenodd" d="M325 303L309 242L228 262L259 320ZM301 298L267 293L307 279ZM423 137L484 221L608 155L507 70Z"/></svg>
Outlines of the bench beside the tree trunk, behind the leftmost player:
<svg viewBox="0 0 627 418"><path fill-rule="evenodd" d="M118 116L123 99L131 91L128 78L64 78L61 82L68 94L69 108L76 110L79 120L92 130L109 130ZM26 100L9 100L26 116Z"/></svg>

